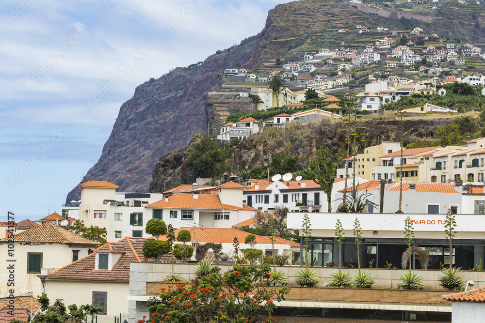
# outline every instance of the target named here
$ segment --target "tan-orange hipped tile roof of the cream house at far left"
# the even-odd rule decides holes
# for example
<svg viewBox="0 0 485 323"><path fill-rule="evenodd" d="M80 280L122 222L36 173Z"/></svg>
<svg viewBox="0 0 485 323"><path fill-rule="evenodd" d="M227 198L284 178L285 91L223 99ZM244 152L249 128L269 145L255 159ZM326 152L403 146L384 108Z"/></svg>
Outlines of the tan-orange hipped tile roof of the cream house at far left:
<svg viewBox="0 0 485 323"><path fill-rule="evenodd" d="M0 239L0 241L8 241L8 238ZM93 245L98 244L96 241L83 238L74 232L56 226L51 222L45 222L37 227L33 227L29 230L15 234L15 242L59 242L65 244L82 243Z"/></svg>

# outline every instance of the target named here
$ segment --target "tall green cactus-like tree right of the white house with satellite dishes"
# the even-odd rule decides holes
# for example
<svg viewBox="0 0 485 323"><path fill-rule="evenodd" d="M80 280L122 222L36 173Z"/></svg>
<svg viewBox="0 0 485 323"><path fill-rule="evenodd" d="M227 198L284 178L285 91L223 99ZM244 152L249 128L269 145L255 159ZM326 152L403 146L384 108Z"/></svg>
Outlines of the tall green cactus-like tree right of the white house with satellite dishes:
<svg viewBox="0 0 485 323"><path fill-rule="evenodd" d="M328 149L322 146L317 151L317 160L310 163L313 182L320 185L320 188L327 195L328 213L332 212L332 188L335 180L335 166L331 157Z"/></svg>

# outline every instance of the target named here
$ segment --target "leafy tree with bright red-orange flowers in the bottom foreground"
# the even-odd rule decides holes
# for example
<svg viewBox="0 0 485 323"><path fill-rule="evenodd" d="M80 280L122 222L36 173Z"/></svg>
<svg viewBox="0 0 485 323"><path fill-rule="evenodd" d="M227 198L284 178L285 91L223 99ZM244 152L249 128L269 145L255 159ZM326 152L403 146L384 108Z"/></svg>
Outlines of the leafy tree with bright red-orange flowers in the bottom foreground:
<svg viewBox="0 0 485 323"><path fill-rule="evenodd" d="M162 289L160 296L148 302L153 317L142 322L272 322L274 301L284 300L290 290L271 287L270 273L270 266L264 263L235 265L225 274L211 273Z"/></svg>

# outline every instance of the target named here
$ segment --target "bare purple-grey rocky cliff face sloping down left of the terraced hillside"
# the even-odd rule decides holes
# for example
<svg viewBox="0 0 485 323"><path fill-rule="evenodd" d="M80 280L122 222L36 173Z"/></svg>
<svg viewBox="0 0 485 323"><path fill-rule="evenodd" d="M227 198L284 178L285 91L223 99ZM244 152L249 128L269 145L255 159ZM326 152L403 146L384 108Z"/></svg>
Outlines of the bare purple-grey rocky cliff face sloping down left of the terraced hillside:
<svg viewBox="0 0 485 323"><path fill-rule="evenodd" d="M207 93L219 88L219 72L246 62L255 42L209 57L193 69L177 68L139 85L119 111L97 163L82 182L109 181L121 192L147 192L160 156L179 149L207 129ZM66 201L79 200L75 187Z"/></svg>

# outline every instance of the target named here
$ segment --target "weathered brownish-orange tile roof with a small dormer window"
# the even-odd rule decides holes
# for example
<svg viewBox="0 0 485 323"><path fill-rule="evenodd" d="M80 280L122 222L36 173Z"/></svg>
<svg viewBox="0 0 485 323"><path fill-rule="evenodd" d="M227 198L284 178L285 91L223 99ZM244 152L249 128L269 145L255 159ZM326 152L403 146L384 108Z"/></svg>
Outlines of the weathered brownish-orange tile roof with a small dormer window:
<svg viewBox="0 0 485 323"><path fill-rule="evenodd" d="M100 246L93 253L49 274L47 280L90 280L129 282L129 264L144 261L142 247L146 238L126 237ZM122 253L112 270L96 270L96 253Z"/></svg>

